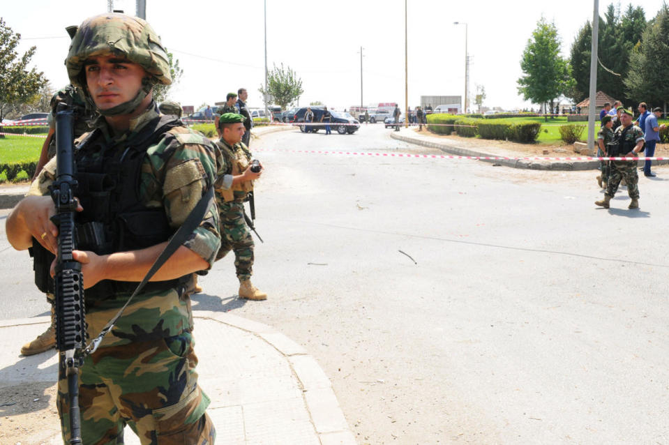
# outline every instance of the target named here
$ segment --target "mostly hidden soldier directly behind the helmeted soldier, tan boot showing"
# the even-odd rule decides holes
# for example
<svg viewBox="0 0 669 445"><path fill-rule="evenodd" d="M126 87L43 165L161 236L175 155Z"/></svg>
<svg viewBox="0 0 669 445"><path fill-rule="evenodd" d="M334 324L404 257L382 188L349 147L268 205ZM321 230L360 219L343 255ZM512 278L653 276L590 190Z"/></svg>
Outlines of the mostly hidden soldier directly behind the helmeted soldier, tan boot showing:
<svg viewBox="0 0 669 445"><path fill-rule="evenodd" d="M75 121L74 121L74 137L80 137L84 133L87 133L91 130L91 123L95 118L95 111L93 110L93 104L90 100L82 94L80 89L72 84L68 84L57 91L54 96L51 98L51 111L47 117L47 122L49 123L49 133L47 138L42 144L42 151L40 153L40 159L38 160L37 167L35 169L35 174L33 175L33 180L37 178L38 174L42 171L44 165L49 162L51 158L56 156L56 122L54 121L54 115L56 114L56 107L59 103L66 103L73 107L75 112ZM47 301L53 305L54 296L52 294L47 294ZM34 354L39 354L40 352L45 352L56 346L56 333L54 331L54 308L51 308L51 324L46 331L40 333L35 340L27 342L21 347L21 354L24 356L30 356Z"/></svg>

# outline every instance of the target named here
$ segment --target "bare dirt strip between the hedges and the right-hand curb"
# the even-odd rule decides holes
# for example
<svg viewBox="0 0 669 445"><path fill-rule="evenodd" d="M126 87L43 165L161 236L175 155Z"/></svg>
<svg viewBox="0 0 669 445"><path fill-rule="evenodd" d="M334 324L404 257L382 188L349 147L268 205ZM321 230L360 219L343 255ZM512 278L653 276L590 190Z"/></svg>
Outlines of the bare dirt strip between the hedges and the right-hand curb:
<svg viewBox="0 0 669 445"><path fill-rule="evenodd" d="M552 157L576 155L573 144L518 144L518 142L499 141L495 139L480 139L478 137L438 135L437 133L426 130L419 132L417 128L414 128L413 130L419 134L449 140L453 142L454 145L463 147L466 146L468 149L486 149L488 152L490 152L491 149L493 152L495 149L500 149L500 151L511 150L518 151L520 153L526 153L527 155L543 155ZM669 144L657 144L655 149L655 156L662 158L669 157Z"/></svg>

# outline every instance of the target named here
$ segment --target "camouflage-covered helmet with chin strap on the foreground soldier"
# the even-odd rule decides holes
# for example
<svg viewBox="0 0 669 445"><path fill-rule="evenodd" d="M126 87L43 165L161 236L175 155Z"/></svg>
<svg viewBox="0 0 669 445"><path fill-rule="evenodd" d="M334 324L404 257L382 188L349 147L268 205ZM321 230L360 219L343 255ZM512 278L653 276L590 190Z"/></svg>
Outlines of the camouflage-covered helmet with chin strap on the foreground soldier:
<svg viewBox="0 0 669 445"><path fill-rule="evenodd" d="M99 110L105 116L133 112L151 91L153 84L172 83L170 61L160 37L151 25L139 17L105 13L89 17L80 25L70 43L65 65L70 82L87 91L84 63L95 56L114 55L142 66L149 77L135 99L110 110Z"/></svg>

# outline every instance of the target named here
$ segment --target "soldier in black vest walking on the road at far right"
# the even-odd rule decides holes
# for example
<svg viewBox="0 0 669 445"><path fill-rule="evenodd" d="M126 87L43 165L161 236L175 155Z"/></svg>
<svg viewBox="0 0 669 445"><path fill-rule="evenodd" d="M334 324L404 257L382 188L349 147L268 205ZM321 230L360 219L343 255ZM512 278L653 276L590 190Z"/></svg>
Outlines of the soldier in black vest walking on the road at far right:
<svg viewBox="0 0 669 445"><path fill-rule="evenodd" d="M619 141L618 153L610 153L609 156L614 157L638 157L643 148L643 132L641 128L633 125L632 112L629 110L622 110L620 114L621 126L615 130L615 137ZM627 193L632 201L629 204L629 209L639 208L639 176L636 172L636 160L613 160L610 163L610 171L608 174L608 187L604 193L604 199L596 201L595 204L605 209L610 206L611 198L618 190L620 181L624 179L627 183Z"/></svg>

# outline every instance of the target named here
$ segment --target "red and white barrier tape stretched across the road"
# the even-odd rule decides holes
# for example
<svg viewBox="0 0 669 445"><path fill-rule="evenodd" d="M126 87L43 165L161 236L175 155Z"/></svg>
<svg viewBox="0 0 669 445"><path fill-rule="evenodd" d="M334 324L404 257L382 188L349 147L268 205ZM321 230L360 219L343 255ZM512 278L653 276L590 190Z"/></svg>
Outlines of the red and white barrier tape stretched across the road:
<svg viewBox="0 0 669 445"><path fill-rule="evenodd" d="M253 151L276 151L278 153L307 153L324 155L348 155L348 156L376 156L386 158L431 158L431 159L469 159L469 160L576 160L580 162L592 160L669 160L669 158L598 158L596 156L580 156L566 158L550 158L541 156L453 156L453 155L426 155L412 153L370 153L360 151L329 151L329 150L286 150L286 149L253 149Z"/></svg>

